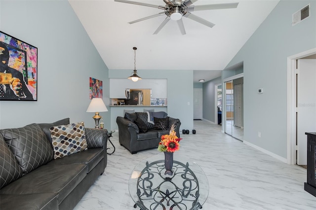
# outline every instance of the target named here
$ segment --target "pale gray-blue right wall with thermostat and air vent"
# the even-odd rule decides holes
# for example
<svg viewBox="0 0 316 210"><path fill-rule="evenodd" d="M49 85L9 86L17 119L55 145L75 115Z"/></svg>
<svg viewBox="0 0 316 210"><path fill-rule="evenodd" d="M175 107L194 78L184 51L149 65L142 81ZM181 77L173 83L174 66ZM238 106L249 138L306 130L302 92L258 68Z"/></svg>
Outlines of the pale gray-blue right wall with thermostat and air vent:
<svg viewBox="0 0 316 210"><path fill-rule="evenodd" d="M292 26L292 14L308 3L311 17ZM315 37L316 1L281 0L229 63L243 61L245 141L287 157L286 59L315 48ZM258 88L264 93L257 94Z"/></svg>

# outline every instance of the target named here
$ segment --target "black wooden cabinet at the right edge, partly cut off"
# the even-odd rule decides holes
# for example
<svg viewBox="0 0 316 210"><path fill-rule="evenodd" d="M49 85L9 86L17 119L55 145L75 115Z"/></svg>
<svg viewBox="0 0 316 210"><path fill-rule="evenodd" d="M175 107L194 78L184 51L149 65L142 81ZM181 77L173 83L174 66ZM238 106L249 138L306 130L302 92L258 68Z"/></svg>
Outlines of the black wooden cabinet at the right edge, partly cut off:
<svg viewBox="0 0 316 210"><path fill-rule="evenodd" d="M305 133L307 135L307 182L304 190L316 197L316 133Z"/></svg>

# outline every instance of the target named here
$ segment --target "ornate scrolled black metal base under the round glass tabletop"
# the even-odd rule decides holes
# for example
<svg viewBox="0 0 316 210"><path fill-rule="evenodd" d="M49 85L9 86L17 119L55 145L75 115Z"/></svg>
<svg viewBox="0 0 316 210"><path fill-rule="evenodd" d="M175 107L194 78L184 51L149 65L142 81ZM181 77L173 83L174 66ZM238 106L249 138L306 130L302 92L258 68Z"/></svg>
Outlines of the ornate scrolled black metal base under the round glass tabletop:
<svg viewBox="0 0 316 210"><path fill-rule="evenodd" d="M174 161L172 176L164 175L164 160L146 162L146 167L137 180L138 201L134 208L141 210L198 210L199 184L189 168Z"/></svg>

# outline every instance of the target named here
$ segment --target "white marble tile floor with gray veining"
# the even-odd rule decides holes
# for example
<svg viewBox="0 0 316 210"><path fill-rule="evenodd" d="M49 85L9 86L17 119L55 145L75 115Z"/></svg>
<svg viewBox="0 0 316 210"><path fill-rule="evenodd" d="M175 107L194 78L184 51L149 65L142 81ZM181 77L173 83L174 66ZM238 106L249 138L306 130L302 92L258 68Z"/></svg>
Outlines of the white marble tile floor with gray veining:
<svg viewBox="0 0 316 210"><path fill-rule="evenodd" d="M209 194L202 210L315 210L316 197L304 190L306 170L287 165L221 133L221 126L194 121L196 135L181 134L179 153L203 169ZM157 149L130 154L118 143L108 165L75 210L134 210L128 179L137 163ZM177 153L176 152L176 153ZM176 155L176 153L174 155ZM138 210L139 208L137 208Z"/></svg>

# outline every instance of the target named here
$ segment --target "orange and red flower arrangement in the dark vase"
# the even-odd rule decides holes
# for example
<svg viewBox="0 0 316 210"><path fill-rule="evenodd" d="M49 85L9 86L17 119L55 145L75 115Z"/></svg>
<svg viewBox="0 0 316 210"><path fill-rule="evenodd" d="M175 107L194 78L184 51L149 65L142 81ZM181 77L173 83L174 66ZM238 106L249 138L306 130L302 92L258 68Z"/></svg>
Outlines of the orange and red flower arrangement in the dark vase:
<svg viewBox="0 0 316 210"><path fill-rule="evenodd" d="M180 149L179 141L182 140L176 136L174 131L175 125L171 126L170 132L167 135L161 136L161 140L158 144L158 151L160 152L175 152Z"/></svg>

